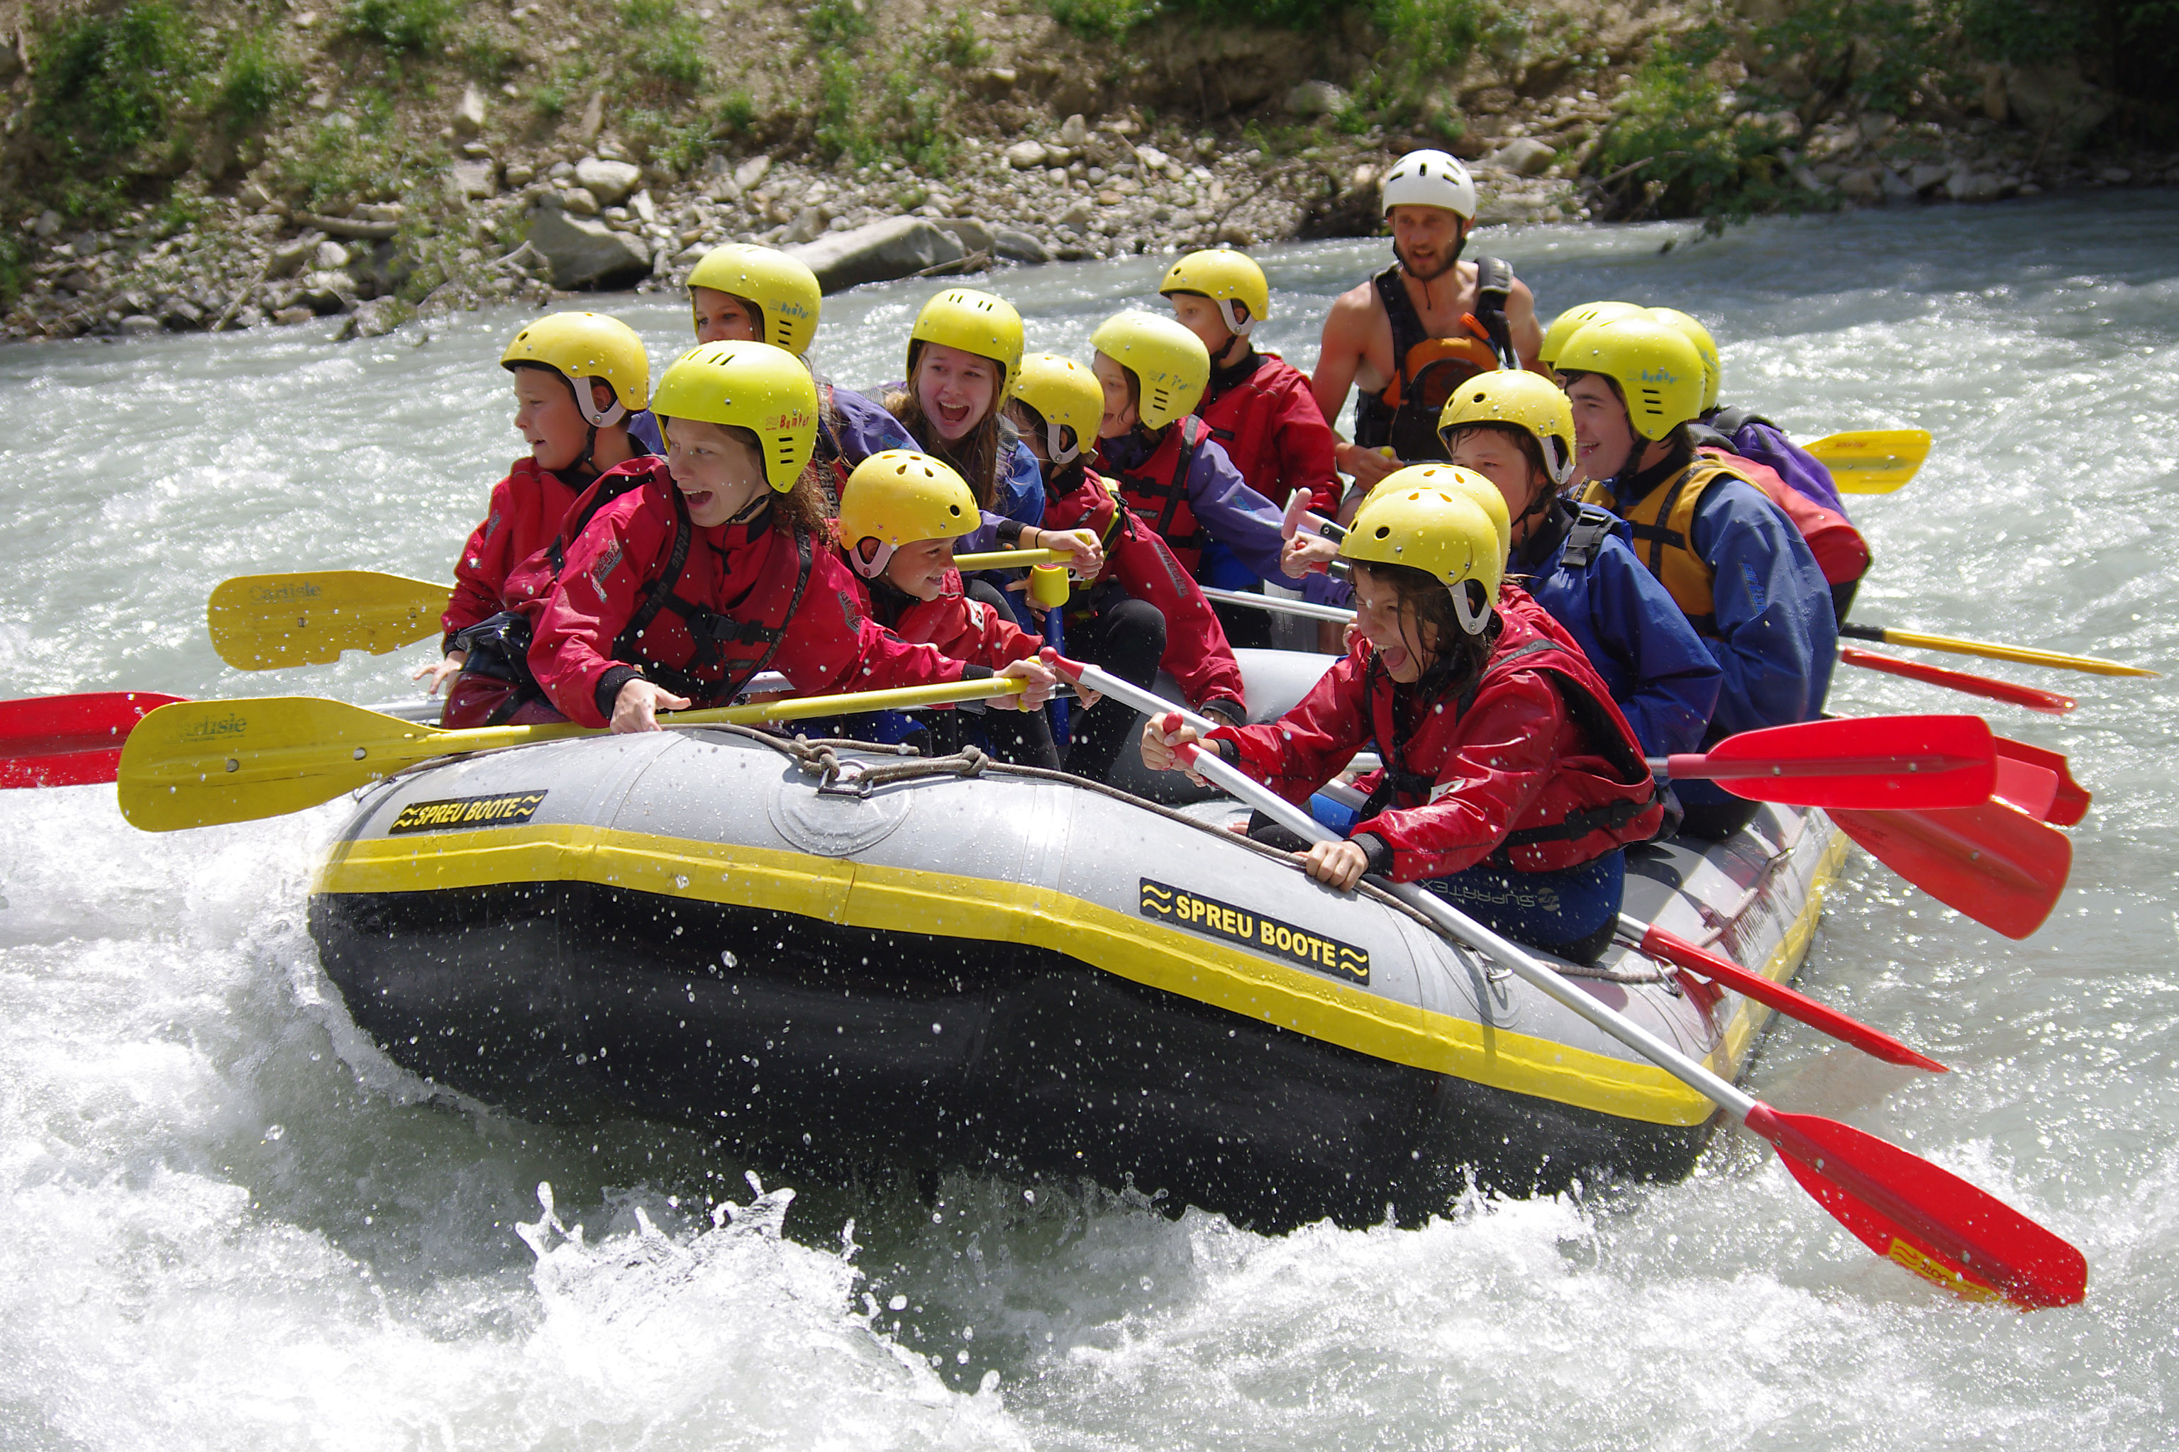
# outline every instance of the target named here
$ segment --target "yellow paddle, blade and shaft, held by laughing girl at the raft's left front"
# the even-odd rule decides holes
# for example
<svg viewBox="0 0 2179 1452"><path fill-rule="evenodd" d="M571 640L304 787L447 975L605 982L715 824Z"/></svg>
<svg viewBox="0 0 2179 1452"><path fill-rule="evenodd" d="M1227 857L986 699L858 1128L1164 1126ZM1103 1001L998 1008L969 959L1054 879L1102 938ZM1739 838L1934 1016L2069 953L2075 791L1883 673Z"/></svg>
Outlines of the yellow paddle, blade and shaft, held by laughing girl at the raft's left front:
<svg viewBox="0 0 2179 1452"><path fill-rule="evenodd" d="M898 690L791 697L660 716L660 725L758 725L852 712L911 710L1020 694L1022 681L935 681ZM316 697L176 701L144 716L122 745L122 816L179 832L301 812L416 762L462 751L604 736L573 723L442 731Z"/></svg>

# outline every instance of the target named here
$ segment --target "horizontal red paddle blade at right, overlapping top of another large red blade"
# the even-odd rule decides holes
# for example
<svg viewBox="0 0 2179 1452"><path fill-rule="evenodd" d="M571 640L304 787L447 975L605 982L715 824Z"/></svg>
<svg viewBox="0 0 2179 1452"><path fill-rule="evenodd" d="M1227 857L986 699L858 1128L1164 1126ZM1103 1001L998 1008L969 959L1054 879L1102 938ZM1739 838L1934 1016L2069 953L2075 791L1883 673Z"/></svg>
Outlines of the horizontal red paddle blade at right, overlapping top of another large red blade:
<svg viewBox="0 0 2179 1452"><path fill-rule="evenodd" d="M1673 777L1804 808L1965 808L1989 801L1996 747L1981 716L1861 716L1741 731L1708 755L1673 755Z"/></svg>

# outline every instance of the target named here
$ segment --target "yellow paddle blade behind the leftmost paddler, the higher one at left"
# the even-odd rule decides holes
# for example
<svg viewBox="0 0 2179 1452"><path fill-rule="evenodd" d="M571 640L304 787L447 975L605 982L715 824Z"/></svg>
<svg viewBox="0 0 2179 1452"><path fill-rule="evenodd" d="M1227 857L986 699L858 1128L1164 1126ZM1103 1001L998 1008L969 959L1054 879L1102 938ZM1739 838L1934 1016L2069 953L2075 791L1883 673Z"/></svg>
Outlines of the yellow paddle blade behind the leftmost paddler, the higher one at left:
<svg viewBox="0 0 2179 1452"><path fill-rule="evenodd" d="M235 670L327 666L342 651L386 655L438 633L449 586L373 570L238 575L211 592L211 647Z"/></svg>

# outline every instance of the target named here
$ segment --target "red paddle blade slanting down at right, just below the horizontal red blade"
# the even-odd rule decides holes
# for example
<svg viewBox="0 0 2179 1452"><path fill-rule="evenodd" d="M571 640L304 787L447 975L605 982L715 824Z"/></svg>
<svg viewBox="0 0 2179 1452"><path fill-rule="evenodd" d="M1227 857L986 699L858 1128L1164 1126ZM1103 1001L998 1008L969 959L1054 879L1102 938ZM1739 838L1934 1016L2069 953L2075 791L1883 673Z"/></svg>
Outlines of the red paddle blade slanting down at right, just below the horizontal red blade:
<svg viewBox="0 0 2179 1452"><path fill-rule="evenodd" d="M2072 842L2003 801L1946 812L1833 812L1839 832L1983 927L2024 938L2066 890Z"/></svg>

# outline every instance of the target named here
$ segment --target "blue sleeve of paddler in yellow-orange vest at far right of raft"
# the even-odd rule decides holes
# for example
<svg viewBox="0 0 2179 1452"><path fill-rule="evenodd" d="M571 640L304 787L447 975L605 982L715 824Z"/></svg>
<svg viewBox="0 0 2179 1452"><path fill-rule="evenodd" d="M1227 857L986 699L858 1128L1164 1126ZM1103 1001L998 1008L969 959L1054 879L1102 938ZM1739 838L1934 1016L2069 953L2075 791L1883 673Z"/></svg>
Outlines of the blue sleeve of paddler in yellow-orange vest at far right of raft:
<svg viewBox="0 0 2179 1452"><path fill-rule="evenodd" d="M1717 636L1704 647L1724 673L1704 740L1813 721L1839 638L1830 586L1809 544L1778 505L1739 479L1711 485L1691 533L1717 573Z"/></svg>

